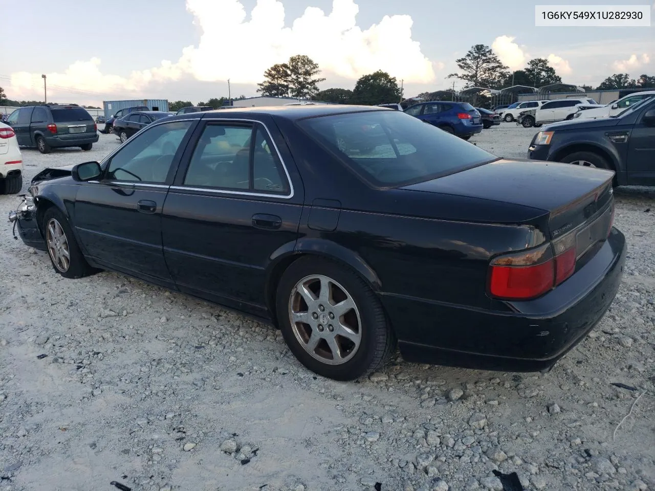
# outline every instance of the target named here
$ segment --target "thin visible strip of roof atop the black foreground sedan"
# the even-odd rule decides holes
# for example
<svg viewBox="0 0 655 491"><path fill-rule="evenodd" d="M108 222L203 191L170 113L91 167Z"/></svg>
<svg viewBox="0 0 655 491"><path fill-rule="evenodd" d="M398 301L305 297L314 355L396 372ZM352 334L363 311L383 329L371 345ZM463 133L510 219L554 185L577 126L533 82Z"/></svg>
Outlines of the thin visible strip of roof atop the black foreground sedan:
<svg viewBox="0 0 655 491"><path fill-rule="evenodd" d="M314 104L314 105L285 105L285 106L259 106L234 107L232 111L204 111L202 118L240 118L252 115L269 115L276 118L298 120L303 118L338 115L345 113L364 113L367 111L392 111L388 107L371 105L340 105L340 104ZM181 114L176 119L197 118L198 113Z"/></svg>

